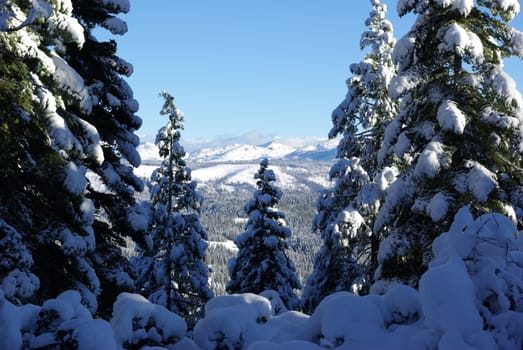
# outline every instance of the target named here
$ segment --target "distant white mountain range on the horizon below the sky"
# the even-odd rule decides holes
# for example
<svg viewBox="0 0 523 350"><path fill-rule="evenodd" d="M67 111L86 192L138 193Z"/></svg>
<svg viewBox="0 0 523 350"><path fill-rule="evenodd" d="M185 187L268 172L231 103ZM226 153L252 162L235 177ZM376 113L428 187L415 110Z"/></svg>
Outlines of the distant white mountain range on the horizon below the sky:
<svg viewBox="0 0 523 350"><path fill-rule="evenodd" d="M188 154L187 162L198 188L205 191L232 192L244 185L252 189L256 185L254 174L263 158L269 159L281 188L318 191L330 186L328 173L336 157L337 145L338 140L230 144L193 151ZM142 166L135 173L149 178L161 161L158 149L153 143L144 143L138 151Z"/></svg>

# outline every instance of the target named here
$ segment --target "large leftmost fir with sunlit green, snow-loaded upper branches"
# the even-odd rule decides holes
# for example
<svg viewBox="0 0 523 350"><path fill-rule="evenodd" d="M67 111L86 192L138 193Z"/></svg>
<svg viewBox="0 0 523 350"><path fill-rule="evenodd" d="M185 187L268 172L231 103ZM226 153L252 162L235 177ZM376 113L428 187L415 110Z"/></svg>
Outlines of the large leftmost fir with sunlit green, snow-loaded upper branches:
<svg viewBox="0 0 523 350"><path fill-rule="evenodd" d="M0 240L17 242L18 252L6 253L20 258L11 272L2 270L0 283L15 302L77 289L94 310L100 282L89 259L94 206L85 197L85 162L100 161L102 152L91 126L66 110L74 105L88 115L93 102L62 57L63 46L85 43L72 11L67 0L0 4L0 142L9 169L2 172Z"/></svg>

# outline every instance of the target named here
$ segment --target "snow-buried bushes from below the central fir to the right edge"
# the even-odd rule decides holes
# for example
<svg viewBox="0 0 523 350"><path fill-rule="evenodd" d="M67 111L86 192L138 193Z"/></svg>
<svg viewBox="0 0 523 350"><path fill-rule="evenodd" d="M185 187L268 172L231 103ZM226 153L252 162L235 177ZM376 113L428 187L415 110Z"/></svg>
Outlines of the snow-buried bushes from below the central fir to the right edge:
<svg viewBox="0 0 523 350"><path fill-rule="evenodd" d="M506 216L458 211L433 244L419 290L338 292L309 317L274 312L277 296L216 297L194 338L201 349L521 349L523 240Z"/></svg>

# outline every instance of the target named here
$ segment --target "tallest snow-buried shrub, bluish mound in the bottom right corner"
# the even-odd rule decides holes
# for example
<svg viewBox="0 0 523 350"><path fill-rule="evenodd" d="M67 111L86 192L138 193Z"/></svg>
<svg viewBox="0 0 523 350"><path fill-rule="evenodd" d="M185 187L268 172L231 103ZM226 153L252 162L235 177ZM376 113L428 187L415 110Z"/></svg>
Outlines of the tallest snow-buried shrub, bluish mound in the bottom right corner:
<svg viewBox="0 0 523 350"><path fill-rule="evenodd" d="M420 299L440 347L523 348L523 239L511 219L489 213L473 220L464 207L433 251Z"/></svg>

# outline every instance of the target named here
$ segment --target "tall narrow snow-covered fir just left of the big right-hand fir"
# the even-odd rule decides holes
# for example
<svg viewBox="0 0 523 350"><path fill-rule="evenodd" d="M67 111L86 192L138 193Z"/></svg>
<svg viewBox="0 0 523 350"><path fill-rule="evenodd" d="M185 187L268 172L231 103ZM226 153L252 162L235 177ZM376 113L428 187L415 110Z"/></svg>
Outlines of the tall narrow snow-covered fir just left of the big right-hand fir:
<svg viewBox="0 0 523 350"><path fill-rule="evenodd" d="M378 238L373 222L382 201L388 169L378 165L378 150L385 126L396 113L388 95L395 74L392 63L392 24L387 7L372 0L360 48L368 49L363 61L352 64L345 99L332 113L329 138L342 136L338 161L330 171L334 187L318 199L313 228L323 245L307 280L303 308L311 313L319 302L337 291L365 294L376 267Z"/></svg>

